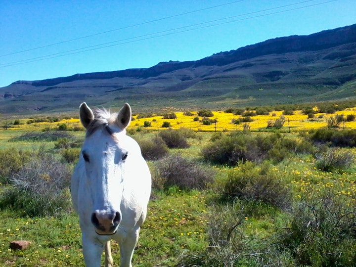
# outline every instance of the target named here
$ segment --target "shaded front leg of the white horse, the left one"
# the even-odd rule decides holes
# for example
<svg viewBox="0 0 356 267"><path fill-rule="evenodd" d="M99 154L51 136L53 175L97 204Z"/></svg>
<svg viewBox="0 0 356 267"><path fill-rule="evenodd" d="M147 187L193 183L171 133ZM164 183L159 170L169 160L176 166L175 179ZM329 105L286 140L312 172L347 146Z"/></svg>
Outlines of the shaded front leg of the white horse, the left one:
<svg viewBox="0 0 356 267"><path fill-rule="evenodd" d="M83 256L86 267L100 267L101 254L104 250L103 244L82 234Z"/></svg>

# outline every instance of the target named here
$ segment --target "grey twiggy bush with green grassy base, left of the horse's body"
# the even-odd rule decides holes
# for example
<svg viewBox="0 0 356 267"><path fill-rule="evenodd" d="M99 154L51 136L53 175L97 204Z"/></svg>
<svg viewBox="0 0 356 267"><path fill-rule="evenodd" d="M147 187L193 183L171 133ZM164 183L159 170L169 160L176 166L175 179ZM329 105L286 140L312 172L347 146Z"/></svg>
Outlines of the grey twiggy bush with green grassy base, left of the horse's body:
<svg viewBox="0 0 356 267"><path fill-rule="evenodd" d="M50 216L70 207L71 172L51 154L39 152L11 177L11 186L0 197L0 209L19 216Z"/></svg>

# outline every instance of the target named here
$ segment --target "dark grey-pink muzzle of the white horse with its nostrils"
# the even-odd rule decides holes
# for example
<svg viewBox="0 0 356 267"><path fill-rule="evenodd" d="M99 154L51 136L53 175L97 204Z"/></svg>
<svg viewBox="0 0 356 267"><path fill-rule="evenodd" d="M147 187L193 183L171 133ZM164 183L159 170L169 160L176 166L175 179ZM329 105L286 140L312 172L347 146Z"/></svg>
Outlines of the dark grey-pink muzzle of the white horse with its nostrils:
<svg viewBox="0 0 356 267"><path fill-rule="evenodd" d="M100 235L111 235L117 231L121 222L121 213L119 211L99 211L91 214L91 223L95 227L95 232Z"/></svg>

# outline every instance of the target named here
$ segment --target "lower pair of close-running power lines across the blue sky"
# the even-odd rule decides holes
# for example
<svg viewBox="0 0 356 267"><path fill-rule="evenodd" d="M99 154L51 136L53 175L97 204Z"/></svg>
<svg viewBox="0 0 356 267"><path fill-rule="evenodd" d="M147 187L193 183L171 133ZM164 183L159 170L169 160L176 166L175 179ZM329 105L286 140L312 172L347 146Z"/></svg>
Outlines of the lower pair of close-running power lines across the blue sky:
<svg viewBox="0 0 356 267"><path fill-rule="evenodd" d="M312 1L312 0L302 1L302 2L295 3L295 4L289 4L289 5L284 5L284 6L274 7L274 8L268 8L268 9L261 10L261 11L255 11L255 12L251 12L251 13L246 13L246 14L236 15L236 16L232 16L232 17L212 20L212 21L208 21L208 22L202 22L202 23L193 24L193 25L189 25L189 26L183 26L183 27L179 27L179 28L176 28L176 29L166 30L166 31L162 31L162 32L156 32L156 33L142 35L142 36L138 36L138 37L132 37L132 38L113 41L113 42L104 43L104 44L100 44L100 45L92 45L92 46L88 46L88 47L82 47L82 48L78 48L78 49L74 49L74 50L58 52L58 53L55 53L55 54L45 55L45 56L41 56L41 57L36 57L36 58L24 59L24 60L21 60L21 61L4 63L4 64L0 64L0 68L20 65L20 64L25 64L25 63L31 63L31 62L36 62L36 61L41 61L41 60L45 60L45 59L52 59L52 58L62 57L62 56L67 56L67 55L72 55L72 54L78 54L78 53L82 53L82 52L98 50L98 49L112 47L112 46L116 46L116 45L125 45L125 44L134 43L134 42L139 42L139 41L145 41L145 40L150 40L150 39L159 38L159 37L170 36L170 35L174 35L174 34L178 34L178 33L184 33L184 32L189 32L189 31L194 31L194 30L200 30L200 29L204 29L204 28L209 28L209 27L219 26L219 25L223 25L223 24L243 21L243 20L247 20L247 19L254 19L254 18L264 17L264 16L268 16L268 15L274 15L274 14L279 14L279 13L283 13L283 12L288 12L288 11L298 10L298 9L302 9L302 8L312 7L312 6L316 6L316 5L320 5L320 4L334 2L334 1L337 1L337 0L329 0L329 1L324 1L324 2L315 3L315 4L311 4L311 5L306 5L306 6L301 6L301 7L296 7L296 8L291 8L291 9L286 9L286 10L281 10L281 11L276 11L276 12L271 12L271 13L267 13L267 14L252 16L252 17L248 17L248 18L242 18L242 19L237 19L237 20L232 20L232 21L227 21L227 22L221 22L221 23L201 26L201 27L193 28L193 29L181 30L181 29L188 28L188 27L199 26L199 25L203 25L203 24L207 24L207 23L211 23L211 22L222 21L222 20L226 20L226 19L239 17L239 16L244 16L244 15L251 15L251 14L255 14L255 13L259 13L259 12L264 12L264 11L268 11L268 10L272 10L272 9L282 8L282 7L296 5L296 4L310 2L310 1ZM174 32L174 33L167 33L167 32L176 31L176 30L181 30L181 31ZM162 34L162 33L165 33L165 34ZM156 35L156 34L162 34L162 35L147 37L147 36ZM142 38L142 37L145 37L145 38ZM136 38L141 38L141 39L132 40L132 39L136 39ZM132 41L129 41L129 40L132 40ZM123 43L119 43L119 42L123 42ZM119 43L119 44L114 44L114 43ZM106 45L106 46L101 46L101 45ZM96 46L100 46L100 47L96 47ZM86 49L86 50L83 50L83 49ZM82 51L80 51L80 50L82 50Z"/></svg>

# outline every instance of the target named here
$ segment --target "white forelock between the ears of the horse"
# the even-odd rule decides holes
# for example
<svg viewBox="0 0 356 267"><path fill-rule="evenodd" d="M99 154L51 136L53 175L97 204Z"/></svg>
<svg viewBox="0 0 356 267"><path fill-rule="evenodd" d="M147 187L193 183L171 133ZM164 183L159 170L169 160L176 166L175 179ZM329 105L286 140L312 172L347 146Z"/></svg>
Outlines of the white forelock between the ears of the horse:
<svg viewBox="0 0 356 267"><path fill-rule="evenodd" d="M94 133L99 128L105 128L109 134L113 134L110 129L110 125L115 124L118 113L111 113L109 110L103 109L93 109L94 120L89 124L87 128L87 136Z"/></svg>

